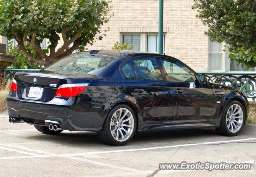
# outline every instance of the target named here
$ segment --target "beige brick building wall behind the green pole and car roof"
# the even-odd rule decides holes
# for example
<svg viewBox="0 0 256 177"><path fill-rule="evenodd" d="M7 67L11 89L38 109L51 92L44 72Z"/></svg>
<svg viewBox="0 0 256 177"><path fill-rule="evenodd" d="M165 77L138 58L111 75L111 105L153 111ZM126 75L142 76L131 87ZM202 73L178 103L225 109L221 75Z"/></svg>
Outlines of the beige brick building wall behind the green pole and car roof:
<svg viewBox="0 0 256 177"><path fill-rule="evenodd" d="M208 70L207 27L191 9L193 0L164 0L166 54L182 60L196 71ZM112 0L114 16L104 25L110 31L89 49L111 49L120 33L158 32L158 0Z"/></svg>

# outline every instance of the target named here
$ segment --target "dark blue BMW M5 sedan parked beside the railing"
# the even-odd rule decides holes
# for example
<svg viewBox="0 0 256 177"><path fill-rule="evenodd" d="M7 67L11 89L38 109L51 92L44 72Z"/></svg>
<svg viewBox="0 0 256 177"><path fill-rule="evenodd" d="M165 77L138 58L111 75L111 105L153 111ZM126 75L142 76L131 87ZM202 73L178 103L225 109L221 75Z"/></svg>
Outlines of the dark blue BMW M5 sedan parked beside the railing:
<svg viewBox="0 0 256 177"><path fill-rule="evenodd" d="M124 145L137 131L215 127L235 136L246 123L244 93L206 81L176 58L124 50L92 50L39 72L17 72L7 98L10 123L46 134L96 131Z"/></svg>

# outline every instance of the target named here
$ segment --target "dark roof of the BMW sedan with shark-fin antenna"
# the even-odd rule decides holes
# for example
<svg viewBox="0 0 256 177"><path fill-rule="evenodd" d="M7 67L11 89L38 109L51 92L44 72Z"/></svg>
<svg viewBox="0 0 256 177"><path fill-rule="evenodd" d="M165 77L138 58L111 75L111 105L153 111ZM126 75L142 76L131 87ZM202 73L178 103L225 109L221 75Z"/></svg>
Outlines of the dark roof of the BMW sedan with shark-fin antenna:
<svg viewBox="0 0 256 177"><path fill-rule="evenodd" d="M154 56L162 56L160 54L150 53L150 52L141 52L141 51L133 51L133 50L90 50L85 52L78 52L76 54L95 54L95 55L101 55L101 56L109 56L113 58L119 58L121 56L125 55L131 55L131 54L150 54ZM73 54L74 55L74 54Z"/></svg>

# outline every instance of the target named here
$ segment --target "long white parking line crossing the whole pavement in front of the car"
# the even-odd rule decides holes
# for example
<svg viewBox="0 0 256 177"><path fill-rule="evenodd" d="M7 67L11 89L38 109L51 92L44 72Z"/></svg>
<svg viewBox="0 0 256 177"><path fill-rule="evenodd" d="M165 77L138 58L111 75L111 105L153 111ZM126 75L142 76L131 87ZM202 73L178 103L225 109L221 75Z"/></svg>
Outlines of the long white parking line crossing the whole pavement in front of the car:
<svg viewBox="0 0 256 177"><path fill-rule="evenodd" d="M144 151L144 150L152 150L152 149L164 149L164 148L172 148L172 147L184 147L184 146L215 144L215 143L230 143L230 142L236 142L236 141L250 141L250 140L256 140L256 138L234 139L234 140L227 140L227 141L212 141L212 142L203 142L203 143L181 144L181 145L171 145L171 146L159 146L159 147L146 147L146 148L138 148L138 149L122 149L122 150L113 150L113 151L96 151L96 152L85 152L85 153L73 153L73 154L52 154L52 155L31 155L31 156L18 156L18 157L0 157L0 160L3 160L3 159L37 158L37 157L67 157L67 156L74 157L74 156L79 156L79 155Z"/></svg>

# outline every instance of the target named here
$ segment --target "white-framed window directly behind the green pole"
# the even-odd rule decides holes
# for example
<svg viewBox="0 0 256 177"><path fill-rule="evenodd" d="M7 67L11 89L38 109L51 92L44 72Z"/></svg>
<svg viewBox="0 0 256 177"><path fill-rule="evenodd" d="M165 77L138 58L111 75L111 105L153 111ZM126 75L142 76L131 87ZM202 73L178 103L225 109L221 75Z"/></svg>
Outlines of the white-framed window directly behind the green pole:
<svg viewBox="0 0 256 177"><path fill-rule="evenodd" d="M158 34L147 34L147 52L158 53ZM165 35L163 35L163 53L165 54Z"/></svg>

